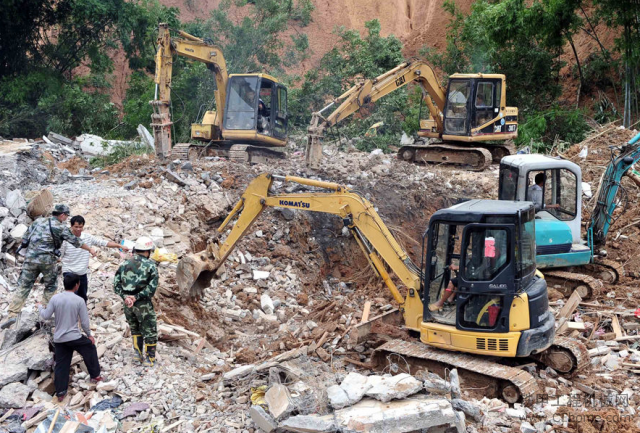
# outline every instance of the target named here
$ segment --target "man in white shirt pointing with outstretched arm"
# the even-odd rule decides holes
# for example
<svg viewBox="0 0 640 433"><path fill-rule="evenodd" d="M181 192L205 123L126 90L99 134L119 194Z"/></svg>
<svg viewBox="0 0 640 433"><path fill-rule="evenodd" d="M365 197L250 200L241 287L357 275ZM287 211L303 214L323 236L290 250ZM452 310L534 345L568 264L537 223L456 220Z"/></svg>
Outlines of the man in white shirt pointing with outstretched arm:
<svg viewBox="0 0 640 433"><path fill-rule="evenodd" d="M129 249L124 245L117 244L115 242L100 239L89 233L84 233L85 220L81 215L76 215L71 218L71 232L79 237L82 242L89 246L107 247L107 248L122 248L125 251ZM76 292L78 296L87 302L87 289L89 287L89 279L87 276L89 270L89 252L81 248L76 248L69 242L64 242L60 249L62 262L62 276L68 274L76 274L80 278L80 288Z"/></svg>

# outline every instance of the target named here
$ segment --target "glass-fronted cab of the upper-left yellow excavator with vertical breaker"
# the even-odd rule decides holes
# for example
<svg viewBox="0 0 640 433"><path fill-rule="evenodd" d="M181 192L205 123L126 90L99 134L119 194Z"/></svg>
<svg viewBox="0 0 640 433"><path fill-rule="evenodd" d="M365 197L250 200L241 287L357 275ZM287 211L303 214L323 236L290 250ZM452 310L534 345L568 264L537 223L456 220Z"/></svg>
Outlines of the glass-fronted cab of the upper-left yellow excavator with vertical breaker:
<svg viewBox="0 0 640 433"><path fill-rule="evenodd" d="M286 87L267 74L231 75L228 86L222 124L225 139L248 144L286 139Z"/></svg>

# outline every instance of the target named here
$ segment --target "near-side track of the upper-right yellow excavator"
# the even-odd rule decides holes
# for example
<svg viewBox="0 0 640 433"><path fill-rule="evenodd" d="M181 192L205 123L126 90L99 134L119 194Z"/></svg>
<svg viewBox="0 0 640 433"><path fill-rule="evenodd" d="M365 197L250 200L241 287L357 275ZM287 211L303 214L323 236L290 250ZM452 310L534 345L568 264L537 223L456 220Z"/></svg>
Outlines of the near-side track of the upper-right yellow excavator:
<svg viewBox="0 0 640 433"><path fill-rule="evenodd" d="M483 171L491 165L491 152L482 147L432 143L402 146L398 159L407 162L467 165L472 171Z"/></svg>

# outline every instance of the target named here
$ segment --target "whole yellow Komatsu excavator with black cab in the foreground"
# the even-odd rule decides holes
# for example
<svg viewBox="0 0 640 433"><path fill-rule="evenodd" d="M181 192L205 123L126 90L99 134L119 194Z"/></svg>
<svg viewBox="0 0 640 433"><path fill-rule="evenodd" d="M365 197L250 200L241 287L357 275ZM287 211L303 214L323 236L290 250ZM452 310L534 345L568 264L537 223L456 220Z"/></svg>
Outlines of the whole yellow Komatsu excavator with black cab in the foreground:
<svg viewBox="0 0 640 433"><path fill-rule="evenodd" d="M324 191L272 193L276 180ZM554 338L547 285L536 271L534 209L528 202L472 200L437 211L423 237L423 259L418 267L371 203L356 192L337 183L262 174L249 184L218 228L223 233L237 217L224 242L209 242L204 251L178 263L176 280L182 293L198 296L209 286L267 207L342 218L398 303L405 328L419 335L420 342L385 343L376 349L378 359L397 354L431 371L457 368L463 382L480 381L487 395L510 403L537 391L531 374L511 366L518 358L534 358L561 373L573 373L588 364L582 344ZM456 267L455 304L431 311L430 300L450 288ZM396 280L405 287L404 296Z"/></svg>

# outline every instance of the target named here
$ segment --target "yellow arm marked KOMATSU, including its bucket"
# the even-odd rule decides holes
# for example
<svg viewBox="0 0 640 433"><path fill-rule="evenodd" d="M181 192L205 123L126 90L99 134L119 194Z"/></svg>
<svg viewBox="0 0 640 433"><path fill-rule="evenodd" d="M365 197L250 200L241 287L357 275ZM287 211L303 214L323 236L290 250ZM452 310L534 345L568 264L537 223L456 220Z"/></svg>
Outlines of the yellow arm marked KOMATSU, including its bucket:
<svg viewBox="0 0 640 433"><path fill-rule="evenodd" d="M274 180L295 182L331 192L271 194L269 189ZM180 261L177 270L180 289L183 292L188 291L189 296L194 297L208 287L238 241L267 207L323 212L342 218L345 226L365 253L369 264L383 279L398 302L404 313L407 327L419 329L422 321L419 268L398 244L373 205L357 193L337 183L272 174L261 174L255 178L218 228L219 233L224 232L230 222L237 217L226 240L220 245L210 243L205 251L186 256ZM407 287L405 298L389 275L387 267Z"/></svg>

